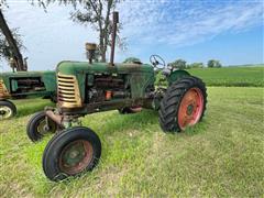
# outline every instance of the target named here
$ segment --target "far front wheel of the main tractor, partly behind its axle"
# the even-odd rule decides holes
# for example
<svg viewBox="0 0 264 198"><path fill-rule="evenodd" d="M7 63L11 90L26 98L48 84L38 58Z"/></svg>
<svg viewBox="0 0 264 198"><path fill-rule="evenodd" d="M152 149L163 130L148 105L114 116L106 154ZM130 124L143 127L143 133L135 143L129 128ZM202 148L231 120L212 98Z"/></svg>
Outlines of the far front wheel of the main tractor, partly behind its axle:
<svg viewBox="0 0 264 198"><path fill-rule="evenodd" d="M48 120L47 125L44 111L33 114L26 125L26 133L32 142L37 142L42 140L45 134L55 133L56 130L57 124L54 121Z"/></svg>

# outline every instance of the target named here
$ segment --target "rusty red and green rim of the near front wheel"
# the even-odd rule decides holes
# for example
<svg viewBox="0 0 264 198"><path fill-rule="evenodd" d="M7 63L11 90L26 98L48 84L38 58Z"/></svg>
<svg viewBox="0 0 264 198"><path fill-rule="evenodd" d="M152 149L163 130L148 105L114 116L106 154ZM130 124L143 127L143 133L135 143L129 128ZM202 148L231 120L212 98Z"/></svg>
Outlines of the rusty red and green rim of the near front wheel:
<svg viewBox="0 0 264 198"><path fill-rule="evenodd" d="M92 146L88 141L77 140L66 145L59 155L59 168L68 175L82 172L91 162Z"/></svg>

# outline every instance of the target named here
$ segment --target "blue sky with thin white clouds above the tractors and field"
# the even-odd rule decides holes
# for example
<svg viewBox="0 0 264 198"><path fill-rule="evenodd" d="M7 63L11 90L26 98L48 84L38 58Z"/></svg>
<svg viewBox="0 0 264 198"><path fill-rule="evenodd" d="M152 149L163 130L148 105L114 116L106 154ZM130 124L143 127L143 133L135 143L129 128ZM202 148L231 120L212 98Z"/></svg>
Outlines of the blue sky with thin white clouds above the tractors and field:
<svg viewBox="0 0 264 198"><path fill-rule="evenodd" d="M86 61L85 43L98 43L89 25L69 19L72 7L51 4L47 12L25 0L7 0L3 14L19 28L30 70L54 69L61 61ZM116 62L152 54L166 63L219 59L223 65L260 64L263 57L264 3L260 0L127 0L121 2L121 36L128 50ZM0 63L0 70L10 70Z"/></svg>

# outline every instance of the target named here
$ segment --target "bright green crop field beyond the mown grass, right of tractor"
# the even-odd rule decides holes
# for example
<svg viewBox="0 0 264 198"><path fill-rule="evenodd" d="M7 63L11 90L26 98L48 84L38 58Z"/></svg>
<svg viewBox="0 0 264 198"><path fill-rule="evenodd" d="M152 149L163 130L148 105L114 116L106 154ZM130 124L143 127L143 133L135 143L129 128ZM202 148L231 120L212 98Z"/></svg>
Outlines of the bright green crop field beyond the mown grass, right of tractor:
<svg viewBox="0 0 264 198"><path fill-rule="evenodd" d="M207 86L264 87L264 65L258 67L195 68L188 70Z"/></svg>

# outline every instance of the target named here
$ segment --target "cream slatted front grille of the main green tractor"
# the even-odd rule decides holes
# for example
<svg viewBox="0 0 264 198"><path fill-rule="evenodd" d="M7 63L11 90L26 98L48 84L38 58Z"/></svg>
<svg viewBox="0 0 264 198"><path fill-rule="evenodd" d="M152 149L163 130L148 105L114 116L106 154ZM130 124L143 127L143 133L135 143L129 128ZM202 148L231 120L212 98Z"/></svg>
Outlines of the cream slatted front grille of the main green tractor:
<svg viewBox="0 0 264 198"><path fill-rule="evenodd" d="M75 76L57 75L58 105L62 108L81 107L79 86Z"/></svg>

